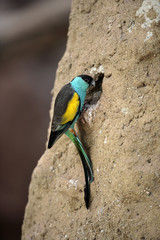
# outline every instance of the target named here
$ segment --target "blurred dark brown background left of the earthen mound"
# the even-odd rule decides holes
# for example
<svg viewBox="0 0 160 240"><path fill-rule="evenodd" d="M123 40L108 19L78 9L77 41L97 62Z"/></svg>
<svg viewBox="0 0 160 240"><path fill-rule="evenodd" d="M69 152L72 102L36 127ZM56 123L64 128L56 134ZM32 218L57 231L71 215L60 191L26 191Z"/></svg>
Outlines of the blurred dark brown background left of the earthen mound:
<svg viewBox="0 0 160 240"><path fill-rule="evenodd" d="M21 239L71 0L0 0L0 239Z"/></svg>

